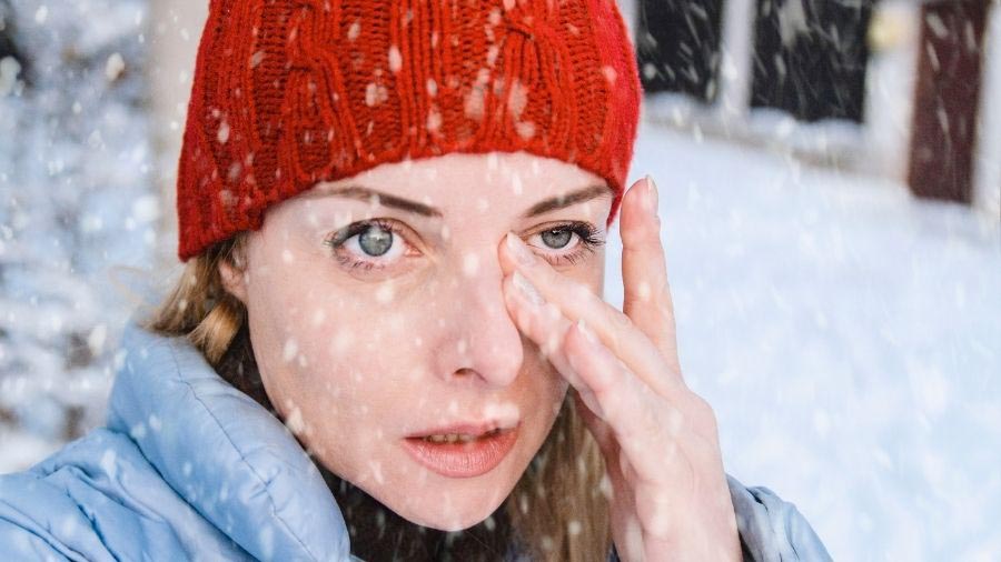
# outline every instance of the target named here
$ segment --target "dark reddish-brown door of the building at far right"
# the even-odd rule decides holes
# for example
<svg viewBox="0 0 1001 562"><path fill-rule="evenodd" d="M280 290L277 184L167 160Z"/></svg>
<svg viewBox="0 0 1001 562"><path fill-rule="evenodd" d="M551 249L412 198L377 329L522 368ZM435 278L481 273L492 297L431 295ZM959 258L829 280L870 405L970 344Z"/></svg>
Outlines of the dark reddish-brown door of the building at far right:
<svg viewBox="0 0 1001 562"><path fill-rule="evenodd" d="M921 7L908 183L919 197L969 203L989 0Z"/></svg>

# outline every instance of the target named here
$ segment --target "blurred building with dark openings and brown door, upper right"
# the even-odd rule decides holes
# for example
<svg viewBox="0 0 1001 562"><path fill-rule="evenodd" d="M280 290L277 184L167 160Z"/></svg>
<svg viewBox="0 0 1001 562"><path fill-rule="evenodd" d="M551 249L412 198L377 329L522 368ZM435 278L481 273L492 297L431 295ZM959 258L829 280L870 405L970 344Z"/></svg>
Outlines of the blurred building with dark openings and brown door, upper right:
<svg viewBox="0 0 1001 562"><path fill-rule="evenodd" d="M1001 220L990 0L634 0L647 117Z"/></svg>

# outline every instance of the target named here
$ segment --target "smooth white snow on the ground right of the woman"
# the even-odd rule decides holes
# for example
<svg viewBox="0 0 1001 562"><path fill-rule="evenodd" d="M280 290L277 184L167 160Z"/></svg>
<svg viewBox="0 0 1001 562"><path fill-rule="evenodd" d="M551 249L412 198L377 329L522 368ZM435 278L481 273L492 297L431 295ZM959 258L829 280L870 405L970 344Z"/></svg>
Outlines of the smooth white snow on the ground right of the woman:
<svg viewBox="0 0 1001 562"><path fill-rule="evenodd" d="M999 560L997 218L651 124L646 173L726 471L795 503L835 560Z"/></svg>

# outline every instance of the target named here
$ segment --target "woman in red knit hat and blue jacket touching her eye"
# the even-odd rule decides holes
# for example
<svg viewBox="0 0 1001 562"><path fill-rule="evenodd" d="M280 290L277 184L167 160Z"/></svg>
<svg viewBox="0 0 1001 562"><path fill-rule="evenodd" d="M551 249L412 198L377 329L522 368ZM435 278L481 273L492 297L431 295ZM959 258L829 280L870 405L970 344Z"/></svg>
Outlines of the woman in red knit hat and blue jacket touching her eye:
<svg viewBox="0 0 1001 562"><path fill-rule="evenodd" d="M827 560L682 378L641 93L607 0L212 1L187 269L0 558Z"/></svg>

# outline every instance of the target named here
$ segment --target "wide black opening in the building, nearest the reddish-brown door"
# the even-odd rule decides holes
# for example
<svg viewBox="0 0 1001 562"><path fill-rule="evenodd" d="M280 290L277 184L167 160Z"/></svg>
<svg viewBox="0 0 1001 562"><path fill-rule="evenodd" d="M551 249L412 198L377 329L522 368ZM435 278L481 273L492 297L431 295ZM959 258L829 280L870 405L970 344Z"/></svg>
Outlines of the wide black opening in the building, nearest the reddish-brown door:
<svg viewBox="0 0 1001 562"><path fill-rule="evenodd" d="M862 122L875 0L759 0L752 108Z"/></svg>

